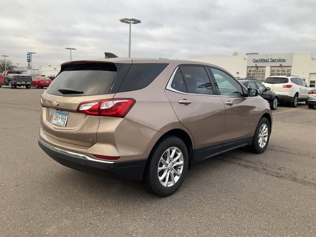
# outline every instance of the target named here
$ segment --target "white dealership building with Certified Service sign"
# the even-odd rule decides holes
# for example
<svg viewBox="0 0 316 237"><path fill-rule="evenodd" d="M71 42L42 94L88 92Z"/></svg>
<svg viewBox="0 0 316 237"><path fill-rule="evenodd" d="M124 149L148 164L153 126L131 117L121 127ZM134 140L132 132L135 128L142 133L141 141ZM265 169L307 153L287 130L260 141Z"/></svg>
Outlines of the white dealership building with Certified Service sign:
<svg viewBox="0 0 316 237"><path fill-rule="evenodd" d="M189 60L218 65L237 78L263 81L269 76L295 75L304 79L310 87L316 84L316 59L312 58L312 53L247 53L227 57L195 57Z"/></svg>

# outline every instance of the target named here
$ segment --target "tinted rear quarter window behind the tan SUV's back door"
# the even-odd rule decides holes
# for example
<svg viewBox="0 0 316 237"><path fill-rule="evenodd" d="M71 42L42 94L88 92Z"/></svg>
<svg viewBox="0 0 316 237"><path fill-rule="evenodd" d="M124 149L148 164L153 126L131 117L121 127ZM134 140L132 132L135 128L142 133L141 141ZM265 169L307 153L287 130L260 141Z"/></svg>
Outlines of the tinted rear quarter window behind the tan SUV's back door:
<svg viewBox="0 0 316 237"><path fill-rule="evenodd" d="M118 92L145 88L167 67L167 63L132 64Z"/></svg>

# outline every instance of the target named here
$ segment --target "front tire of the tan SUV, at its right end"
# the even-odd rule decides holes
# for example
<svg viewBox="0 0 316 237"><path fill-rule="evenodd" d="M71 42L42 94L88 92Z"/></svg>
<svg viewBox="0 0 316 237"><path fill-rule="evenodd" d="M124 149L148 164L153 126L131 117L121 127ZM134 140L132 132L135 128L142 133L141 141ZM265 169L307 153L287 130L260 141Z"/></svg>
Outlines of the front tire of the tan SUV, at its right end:
<svg viewBox="0 0 316 237"><path fill-rule="evenodd" d="M263 140L263 143L260 144L259 139L260 139L260 135L262 134L262 131L260 131L260 130L265 129L264 124L266 125L266 128L268 129L267 130L267 139L266 139L265 144L263 144L265 140ZM271 129L270 129L269 120L267 118L264 118L264 117L261 118L260 121L258 122L256 131L255 131L255 135L253 137L252 144L250 146L250 151L252 151L253 153L257 153L257 154L263 153L268 147L269 140L270 140L270 132L271 132ZM264 139L264 137L261 137L261 138Z"/></svg>

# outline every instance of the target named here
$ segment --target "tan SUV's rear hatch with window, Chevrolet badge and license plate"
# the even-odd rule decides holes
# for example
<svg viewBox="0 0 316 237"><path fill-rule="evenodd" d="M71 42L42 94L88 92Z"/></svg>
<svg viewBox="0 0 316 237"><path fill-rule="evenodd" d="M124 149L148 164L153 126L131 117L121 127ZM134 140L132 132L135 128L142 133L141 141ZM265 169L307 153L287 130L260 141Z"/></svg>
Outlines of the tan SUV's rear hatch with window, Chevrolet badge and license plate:
<svg viewBox="0 0 316 237"><path fill-rule="evenodd" d="M95 144L100 117L79 113L77 109L83 102L114 97L114 81L121 78L118 73L121 66L117 66L111 62L63 65L42 94L41 125L44 132L63 142L86 147Z"/></svg>

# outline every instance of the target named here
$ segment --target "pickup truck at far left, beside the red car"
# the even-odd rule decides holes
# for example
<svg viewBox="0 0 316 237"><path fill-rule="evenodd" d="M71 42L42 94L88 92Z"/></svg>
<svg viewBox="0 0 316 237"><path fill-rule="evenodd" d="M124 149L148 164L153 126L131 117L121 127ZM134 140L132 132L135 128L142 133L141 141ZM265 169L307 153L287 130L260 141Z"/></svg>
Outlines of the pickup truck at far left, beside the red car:
<svg viewBox="0 0 316 237"><path fill-rule="evenodd" d="M22 74L19 71L3 71L0 74L0 87L8 85L13 89L17 86L25 86L27 89L31 87L32 77Z"/></svg>

